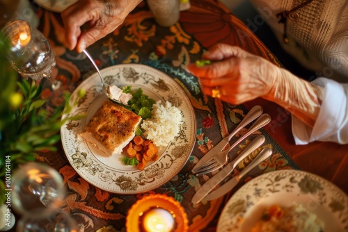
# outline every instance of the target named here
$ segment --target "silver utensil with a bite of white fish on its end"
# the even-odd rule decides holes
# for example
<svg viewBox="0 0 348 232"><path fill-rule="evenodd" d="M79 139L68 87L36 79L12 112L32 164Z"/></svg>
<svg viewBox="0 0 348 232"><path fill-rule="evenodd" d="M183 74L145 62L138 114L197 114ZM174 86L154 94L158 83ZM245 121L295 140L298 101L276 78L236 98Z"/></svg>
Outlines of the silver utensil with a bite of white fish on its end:
<svg viewBox="0 0 348 232"><path fill-rule="evenodd" d="M105 83L104 79L102 78L102 74L100 73L100 69L93 60L92 56L90 56L90 53L86 49L84 49L84 53L90 59L95 69L97 69L97 73L100 76L100 81L102 81L102 91L104 92L106 97L109 97L109 99L111 99L112 101L116 101L118 103L121 103L122 105L128 106L128 101L132 99L132 94L122 92L122 90L116 85L108 85L107 83Z"/></svg>

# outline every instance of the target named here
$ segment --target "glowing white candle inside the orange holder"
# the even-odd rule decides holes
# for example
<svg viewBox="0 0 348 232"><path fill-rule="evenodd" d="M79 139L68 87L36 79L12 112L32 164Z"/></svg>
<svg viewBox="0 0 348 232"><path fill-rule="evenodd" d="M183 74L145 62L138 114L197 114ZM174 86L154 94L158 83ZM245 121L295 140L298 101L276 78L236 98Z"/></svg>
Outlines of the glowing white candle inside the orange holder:
<svg viewBox="0 0 348 232"><path fill-rule="evenodd" d="M171 232L175 229L175 215L164 208L151 208L140 217L141 231Z"/></svg>

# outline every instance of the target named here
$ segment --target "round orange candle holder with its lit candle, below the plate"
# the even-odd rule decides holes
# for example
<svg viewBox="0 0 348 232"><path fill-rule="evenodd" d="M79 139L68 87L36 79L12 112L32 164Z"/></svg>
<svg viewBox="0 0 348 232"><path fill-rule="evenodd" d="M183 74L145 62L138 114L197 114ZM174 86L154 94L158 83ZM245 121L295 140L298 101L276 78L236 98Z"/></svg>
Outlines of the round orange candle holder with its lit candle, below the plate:
<svg viewBox="0 0 348 232"><path fill-rule="evenodd" d="M127 231L185 232L189 231L187 214L173 197L152 194L143 197L129 209Z"/></svg>

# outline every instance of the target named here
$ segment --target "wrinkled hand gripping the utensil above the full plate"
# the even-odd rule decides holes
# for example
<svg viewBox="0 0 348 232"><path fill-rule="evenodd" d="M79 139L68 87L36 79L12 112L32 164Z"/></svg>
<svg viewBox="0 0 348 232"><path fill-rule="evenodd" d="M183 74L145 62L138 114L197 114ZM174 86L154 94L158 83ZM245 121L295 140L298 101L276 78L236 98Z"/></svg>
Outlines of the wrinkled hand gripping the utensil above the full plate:
<svg viewBox="0 0 348 232"><path fill-rule="evenodd" d="M66 46L80 53L120 26L142 0L79 0L61 13ZM81 31L88 23L89 28Z"/></svg>

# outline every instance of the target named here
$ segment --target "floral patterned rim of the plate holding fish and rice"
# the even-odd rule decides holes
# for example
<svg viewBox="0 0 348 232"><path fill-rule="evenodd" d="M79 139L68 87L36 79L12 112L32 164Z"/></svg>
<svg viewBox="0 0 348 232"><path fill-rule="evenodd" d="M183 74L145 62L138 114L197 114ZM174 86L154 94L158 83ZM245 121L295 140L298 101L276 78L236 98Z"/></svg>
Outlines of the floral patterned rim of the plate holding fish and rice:
<svg viewBox="0 0 348 232"><path fill-rule="evenodd" d="M76 102L79 90L86 95L78 100L72 112L65 117L86 115L83 119L65 122L61 127L61 140L65 155L75 171L86 181L118 194L137 194L158 188L171 180L184 167L196 141L196 115L189 98L173 78L146 65L114 65L101 70L106 83L141 88L143 93L156 101L169 101L182 112L180 132L167 147L159 147L160 158L148 163L145 169L124 165L124 154L105 157L77 134L94 115L106 96L97 73L83 81L72 93L70 101Z"/></svg>

